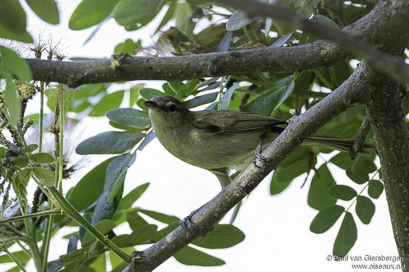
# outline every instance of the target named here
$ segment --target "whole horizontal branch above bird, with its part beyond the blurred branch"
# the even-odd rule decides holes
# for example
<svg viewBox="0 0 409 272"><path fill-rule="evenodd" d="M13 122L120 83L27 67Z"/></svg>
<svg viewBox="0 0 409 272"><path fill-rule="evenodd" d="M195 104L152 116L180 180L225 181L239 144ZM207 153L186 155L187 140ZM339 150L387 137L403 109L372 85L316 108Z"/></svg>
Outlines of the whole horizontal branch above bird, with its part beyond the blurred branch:
<svg viewBox="0 0 409 272"><path fill-rule="evenodd" d="M379 1L369 14L343 30L350 35L343 35L353 36L354 39L360 36L381 50L387 48L394 41L395 36L391 33L396 33L396 26L399 24L403 26L409 21L405 17L408 14L400 14L401 17L403 16L402 19L396 17L396 13L404 12L402 9L405 7L402 5L399 7L395 5L397 6L395 8L392 1ZM396 24L391 23L392 21ZM331 29L332 32L334 29ZM393 52L390 53L393 54ZM64 62L28 59L27 62L34 80L61 82L76 87L81 84L100 82L172 81L246 75L261 71L302 71L328 67L349 54L345 47L331 42L317 41L302 46L167 58L125 56L119 61L120 66L116 69L111 68L110 60Z"/></svg>

